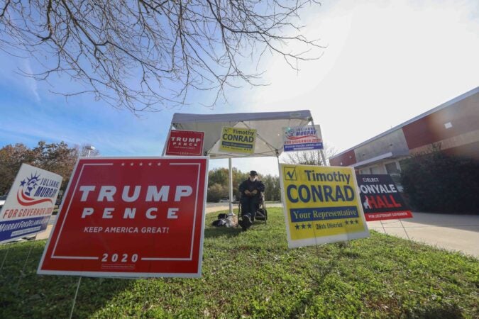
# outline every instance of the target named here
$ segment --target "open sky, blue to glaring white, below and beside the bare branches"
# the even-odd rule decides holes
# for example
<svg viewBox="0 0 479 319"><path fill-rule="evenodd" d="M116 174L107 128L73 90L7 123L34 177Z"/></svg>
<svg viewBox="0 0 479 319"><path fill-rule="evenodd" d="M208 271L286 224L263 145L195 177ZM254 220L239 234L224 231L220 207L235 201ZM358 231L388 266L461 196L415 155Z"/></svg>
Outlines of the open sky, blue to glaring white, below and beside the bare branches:
<svg viewBox="0 0 479 319"><path fill-rule="evenodd" d="M0 147L39 140L92 144L105 156L160 155L172 114L310 109L327 145L337 151L382 133L479 86L479 1L322 1L302 16L305 32L326 45L321 59L299 72L280 57L260 65L270 86L229 90L229 104L197 103L134 115L76 96L65 101L55 86L18 68L33 61L0 51ZM213 160L210 167L227 166ZM276 159L233 159L277 174Z"/></svg>

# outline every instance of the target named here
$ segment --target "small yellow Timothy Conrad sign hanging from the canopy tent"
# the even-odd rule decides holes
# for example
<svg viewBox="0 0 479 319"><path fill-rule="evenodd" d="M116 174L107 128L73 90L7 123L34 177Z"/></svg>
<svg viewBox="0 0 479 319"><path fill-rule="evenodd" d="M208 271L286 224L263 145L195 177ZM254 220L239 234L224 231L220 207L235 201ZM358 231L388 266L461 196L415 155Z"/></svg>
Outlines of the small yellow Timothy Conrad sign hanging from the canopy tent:
<svg viewBox="0 0 479 319"><path fill-rule="evenodd" d="M219 150L228 153L253 154L255 142L256 130L224 127L221 129Z"/></svg>

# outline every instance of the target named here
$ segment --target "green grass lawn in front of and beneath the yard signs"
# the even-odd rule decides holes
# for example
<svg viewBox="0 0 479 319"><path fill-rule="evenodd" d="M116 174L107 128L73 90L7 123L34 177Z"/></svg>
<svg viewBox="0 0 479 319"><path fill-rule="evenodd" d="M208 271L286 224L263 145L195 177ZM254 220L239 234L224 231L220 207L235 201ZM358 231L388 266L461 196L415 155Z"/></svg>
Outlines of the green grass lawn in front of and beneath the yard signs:
<svg viewBox="0 0 479 319"><path fill-rule="evenodd" d="M242 232L209 214L201 279L83 277L73 317L479 318L478 259L375 232L288 250L281 208L268 215ZM78 277L37 275L43 247L0 245L0 318L70 315Z"/></svg>

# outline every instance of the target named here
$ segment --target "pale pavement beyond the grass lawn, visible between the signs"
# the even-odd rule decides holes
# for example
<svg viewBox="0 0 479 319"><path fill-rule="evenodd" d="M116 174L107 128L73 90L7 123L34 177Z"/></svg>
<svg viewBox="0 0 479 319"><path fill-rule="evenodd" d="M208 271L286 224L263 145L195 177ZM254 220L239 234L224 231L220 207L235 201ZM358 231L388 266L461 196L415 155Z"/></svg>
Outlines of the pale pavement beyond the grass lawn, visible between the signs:
<svg viewBox="0 0 479 319"><path fill-rule="evenodd" d="M269 203L266 206L281 207L281 203ZM233 208L238 208L238 204L233 204ZM207 213L227 210L229 203L207 204ZM368 222L368 227L380 233L406 239L409 237L417 242L479 258L479 216L434 213L413 213L413 216L402 220ZM38 234L37 239L48 238L55 218L52 216L47 230Z"/></svg>

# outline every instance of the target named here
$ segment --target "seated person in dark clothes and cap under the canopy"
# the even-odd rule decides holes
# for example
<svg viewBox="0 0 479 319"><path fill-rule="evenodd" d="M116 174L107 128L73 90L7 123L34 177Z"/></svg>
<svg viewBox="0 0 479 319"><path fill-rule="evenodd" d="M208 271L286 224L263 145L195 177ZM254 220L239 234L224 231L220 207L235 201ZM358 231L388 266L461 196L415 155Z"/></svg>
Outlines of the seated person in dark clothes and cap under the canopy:
<svg viewBox="0 0 479 319"><path fill-rule="evenodd" d="M255 220L255 214L260 205L261 192L265 191L265 184L258 180L256 171L251 171L250 177L240 184L239 191L241 193L241 213L243 216L239 224L243 229L248 229Z"/></svg>

